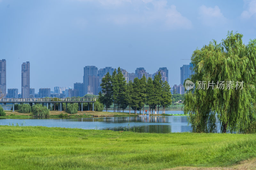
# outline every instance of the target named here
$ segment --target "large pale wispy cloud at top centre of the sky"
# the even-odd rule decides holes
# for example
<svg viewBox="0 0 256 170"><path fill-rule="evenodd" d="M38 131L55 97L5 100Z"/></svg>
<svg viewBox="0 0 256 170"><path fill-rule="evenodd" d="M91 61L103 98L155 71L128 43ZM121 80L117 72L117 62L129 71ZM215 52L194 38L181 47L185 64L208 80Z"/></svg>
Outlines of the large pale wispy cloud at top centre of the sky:
<svg viewBox="0 0 256 170"><path fill-rule="evenodd" d="M170 29L190 29L192 27L191 21L182 16L175 5L168 6L166 0L140 0L140 2L137 0L136 3L133 1L130 3L136 10L126 13L120 11L122 14L109 15L107 21L118 25L158 23Z"/></svg>

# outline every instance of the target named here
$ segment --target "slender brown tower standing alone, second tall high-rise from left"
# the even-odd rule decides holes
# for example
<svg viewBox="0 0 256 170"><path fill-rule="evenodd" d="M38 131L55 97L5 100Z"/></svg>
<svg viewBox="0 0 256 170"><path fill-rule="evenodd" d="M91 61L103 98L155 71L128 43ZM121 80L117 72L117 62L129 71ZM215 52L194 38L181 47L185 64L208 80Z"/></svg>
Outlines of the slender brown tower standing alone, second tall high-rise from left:
<svg viewBox="0 0 256 170"><path fill-rule="evenodd" d="M30 63L21 65L21 98L28 98L30 93Z"/></svg>

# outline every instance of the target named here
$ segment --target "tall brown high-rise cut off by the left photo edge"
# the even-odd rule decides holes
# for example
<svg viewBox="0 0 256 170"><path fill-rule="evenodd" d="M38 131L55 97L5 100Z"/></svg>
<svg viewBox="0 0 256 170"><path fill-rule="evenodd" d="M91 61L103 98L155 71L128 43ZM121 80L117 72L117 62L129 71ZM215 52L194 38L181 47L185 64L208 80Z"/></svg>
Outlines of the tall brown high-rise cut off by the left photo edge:
<svg viewBox="0 0 256 170"><path fill-rule="evenodd" d="M6 97L6 60L0 60L0 95Z"/></svg>

